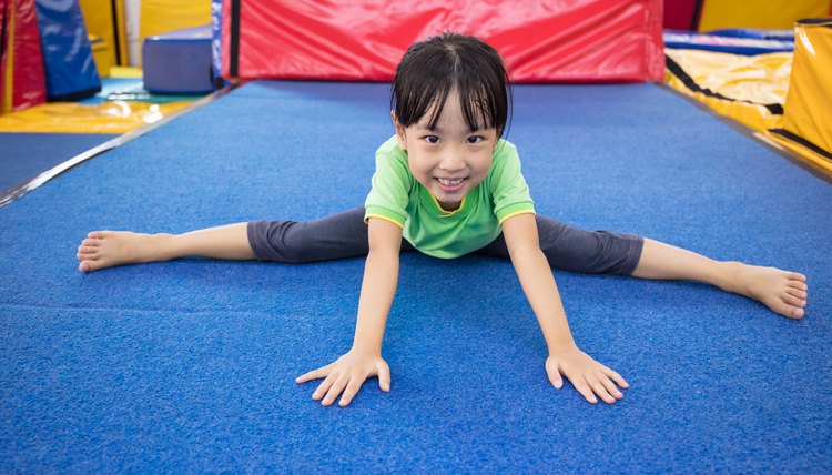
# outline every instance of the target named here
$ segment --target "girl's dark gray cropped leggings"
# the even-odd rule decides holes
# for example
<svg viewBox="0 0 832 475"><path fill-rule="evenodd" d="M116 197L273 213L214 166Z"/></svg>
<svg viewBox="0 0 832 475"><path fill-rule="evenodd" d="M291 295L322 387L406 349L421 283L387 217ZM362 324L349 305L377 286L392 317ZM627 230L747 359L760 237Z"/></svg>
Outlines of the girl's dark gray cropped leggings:
<svg viewBox="0 0 832 475"><path fill-rule="evenodd" d="M584 231L536 216L549 265L587 274L630 275L641 257L643 239L635 234ZM304 263L367 255L364 206L315 221L252 221L248 243L260 261ZM415 247L402 240L402 252ZM474 254L508 259L503 234Z"/></svg>

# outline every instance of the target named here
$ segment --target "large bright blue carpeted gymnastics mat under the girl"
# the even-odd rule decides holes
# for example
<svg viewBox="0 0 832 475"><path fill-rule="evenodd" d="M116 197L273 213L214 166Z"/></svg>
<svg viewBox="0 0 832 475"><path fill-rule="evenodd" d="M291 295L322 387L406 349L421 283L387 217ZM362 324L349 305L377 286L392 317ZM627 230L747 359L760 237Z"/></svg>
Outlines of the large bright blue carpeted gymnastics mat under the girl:
<svg viewBox="0 0 832 475"><path fill-rule="evenodd" d="M808 316L686 282L555 271L578 345L630 383L549 384L508 261L402 257L392 391L294 378L349 348L362 259L77 271L89 231L363 203L388 84L254 82L0 208L0 472L832 471L832 186L655 84L522 85L539 213L803 272Z"/></svg>

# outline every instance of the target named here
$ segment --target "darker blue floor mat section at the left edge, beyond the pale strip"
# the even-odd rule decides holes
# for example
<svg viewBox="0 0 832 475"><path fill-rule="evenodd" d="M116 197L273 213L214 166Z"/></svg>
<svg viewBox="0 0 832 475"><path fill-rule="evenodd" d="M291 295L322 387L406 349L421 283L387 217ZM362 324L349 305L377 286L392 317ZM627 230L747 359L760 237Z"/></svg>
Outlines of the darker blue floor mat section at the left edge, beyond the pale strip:
<svg viewBox="0 0 832 475"><path fill-rule="evenodd" d="M0 132L0 194L114 137Z"/></svg>

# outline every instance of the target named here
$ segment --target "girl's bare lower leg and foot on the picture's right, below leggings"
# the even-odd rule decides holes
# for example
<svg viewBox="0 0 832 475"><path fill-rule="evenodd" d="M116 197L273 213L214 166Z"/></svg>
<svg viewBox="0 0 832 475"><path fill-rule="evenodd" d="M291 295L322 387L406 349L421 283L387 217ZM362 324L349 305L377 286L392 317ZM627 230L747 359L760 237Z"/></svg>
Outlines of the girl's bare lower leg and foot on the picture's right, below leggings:
<svg viewBox="0 0 832 475"><path fill-rule="evenodd" d="M760 301L790 319L802 319L805 314L809 285L803 274L741 262L714 261L649 239L645 239L641 259L632 275L704 282Z"/></svg>

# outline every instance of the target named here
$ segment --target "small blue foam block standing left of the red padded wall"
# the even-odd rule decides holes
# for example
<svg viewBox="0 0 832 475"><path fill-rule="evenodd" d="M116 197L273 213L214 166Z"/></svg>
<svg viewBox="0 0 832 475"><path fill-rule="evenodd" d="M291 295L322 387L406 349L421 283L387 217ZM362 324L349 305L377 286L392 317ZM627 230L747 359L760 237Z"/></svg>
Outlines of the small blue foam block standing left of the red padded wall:
<svg viewBox="0 0 832 475"><path fill-rule="evenodd" d="M205 94L213 91L211 27L145 38L142 68L144 89L155 94Z"/></svg>

